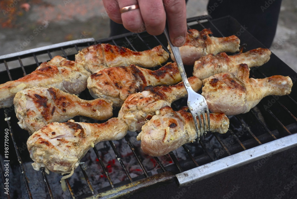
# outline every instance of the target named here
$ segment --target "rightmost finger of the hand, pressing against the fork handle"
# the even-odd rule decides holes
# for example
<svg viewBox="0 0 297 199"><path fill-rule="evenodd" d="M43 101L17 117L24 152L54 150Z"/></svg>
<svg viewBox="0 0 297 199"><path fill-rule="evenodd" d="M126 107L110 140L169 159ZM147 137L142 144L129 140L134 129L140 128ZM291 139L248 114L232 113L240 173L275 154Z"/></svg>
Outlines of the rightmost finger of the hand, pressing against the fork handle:
<svg viewBox="0 0 297 199"><path fill-rule="evenodd" d="M170 40L174 46L184 45L187 36L185 0L164 0Z"/></svg>

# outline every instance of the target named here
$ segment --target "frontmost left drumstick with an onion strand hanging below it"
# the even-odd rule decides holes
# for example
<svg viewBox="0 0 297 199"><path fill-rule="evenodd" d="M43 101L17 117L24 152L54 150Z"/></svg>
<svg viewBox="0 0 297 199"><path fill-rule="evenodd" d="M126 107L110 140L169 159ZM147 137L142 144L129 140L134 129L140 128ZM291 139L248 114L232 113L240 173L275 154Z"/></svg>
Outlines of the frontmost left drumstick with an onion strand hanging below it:
<svg viewBox="0 0 297 199"><path fill-rule="evenodd" d="M35 170L45 167L52 172L70 173L62 177L63 182L73 174L91 147L98 142L122 139L127 130L127 125L119 118L111 118L102 124L74 120L50 123L33 133L27 141L34 161L32 166Z"/></svg>

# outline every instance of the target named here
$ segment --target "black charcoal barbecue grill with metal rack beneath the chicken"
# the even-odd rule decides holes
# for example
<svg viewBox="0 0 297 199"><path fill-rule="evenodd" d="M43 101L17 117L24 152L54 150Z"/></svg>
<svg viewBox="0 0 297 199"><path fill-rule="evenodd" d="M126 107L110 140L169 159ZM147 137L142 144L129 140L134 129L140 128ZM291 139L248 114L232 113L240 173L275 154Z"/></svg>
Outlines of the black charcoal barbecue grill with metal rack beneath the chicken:
<svg viewBox="0 0 297 199"><path fill-rule="evenodd" d="M259 47L265 48L248 30L242 29L242 26L230 16L212 20L210 16L205 15L189 18L187 23L189 29L193 28L201 31L204 28L210 28L215 37L235 34L240 38L241 44L247 44L244 51ZM146 32L127 33L98 41L89 38L54 44L0 56L0 66L4 65L6 68L6 71L0 73L0 83L16 80L23 75L31 73L40 63L50 60L55 55L63 55L69 60L74 60L74 55L79 50L96 43L110 43L124 46L135 51L151 49L159 44L161 44L164 49L167 49L165 35L152 36ZM23 60L26 60L26 62L32 61L34 63L24 66ZM12 66L15 65L19 67L11 69ZM185 66L185 68L187 75L191 76L191 67ZM268 63L260 67L251 68L250 71L250 77L254 78L264 78L277 74L290 76L292 78L293 88L290 95L265 97L255 108L249 111L249 113L230 116L230 128L226 134L208 133L200 138L198 142L185 144L180 149L170 152L165 158L149 157L149 160L156 165L155 168L157 168L157 170L155 171L151 171L151 168L148 169L148 163L144 162L144 159L148 157L143 157L144 154L141 152L139 144L135 141L136 133L128 133L127 136L120 141L109 141L104 142L104 144L97 144L97 147L94 147L91 153L95 154L95 158L97 158L95 164L101 170L101 173L97 172L97 174L101 174L101 176L103 176L102 178L105 178L108 184L105 184L106 186L104 187L102 187L102 185L99 186L96 182L96 178L90 175L90 172L93 172L92 169L89 169L86 164L80 164L80 168L77 168L75 172L80 172L83 177L75 183L71 183L73 176L66 179L69 192L66 191L67 193L65 192L64 195L68 198L133 198L138 196L146 198L149 191L156 190L158 194L163 192L163 195L159 195L160 197L165 197L164 193L166 193L168 198L181 198L186 195L187 190L192 190L192 193L197 193L197 187L201 188L209 185L209 183L204 180L209 178L212 180L216 179L217 182L222 184L222 187L225 187L225 193L229 193L229 195L224 195L225 193L222 192L219 196L213 195L213 198L230 198L236 195L237 190L240 188L236 187L236 184L232 184L232 181L224 177L226 173L228 174L229 172L228 175L230 175L231 172L236 175L238 172L244 173L244 170L249 172L251 171L250 167L254 166L252 170L259 170L258 172L261 176L262 174L260 173L267 172L268 165L273 163L272 159L279 159L279 157L271 158L271 156L282 151L287 153L280 154L291 158L288 164L293 165L291 173L296 174L296 158L290 155L296 153L297 146L297 88L295 85L297 74L273 53ZM91 99L87 91L84 91L80 97ZM178 109L182 105L186 105L186 99L180 99L175 102L173 108ZM117 111L118 110L114 111L115 116L117 116ZM43 193L46 195L44 198L60 198L61 195L57 194L57 191L61 190L60 183L57 181L56 183L59 186L53 187L54 178L51 178L51 176L55 175L59 176L55 179L60 179L60 175L54 173L47 175L45 170L42 169L41 174L40 172L33 171L42 176L42 178L30 178L28 173L32 172L32 168L29 169L26 163L32 162L32 160L29 158L29 152L26 146L24 146L29 134L27 131L20 129L16 124L18 120L15 117L13 107L1 109L0 112L1 131L7 128L10 132L9 158L5 158L3 151L1 151L1 155L3 155L0 159L1 180L3 181L0 185L1 190L4 190L2 186L6 178L4 177L5 169L3 165L7 163L5 160L10 160L10 176L13 175L13 173L21 173L21 180L15 181L14 184L11 184L13 179L10 179L9 195L1 192L1 198L41 198L36 195L35 192L33 193L33 190L37 189L38 186L46 187L45 193ZM4 119L7 120L7 122L5 122ZM86 118L76 117L75 120L86 121ZM92 120L89 121L95 122ZM129 147L127 147L126 150L122 150L119 146L123 144L121 145L119 143L124 143ZM107 165L103 161L104 153L102 151L104 151L106 147L110 148L109 152L111 150L113 151L111 156L113 156L116 161L113 160L113 164ZM123 151L125 154L123 154ZM129 153L127 153L127 151ZM182 153L182 155L180 155L180 153ZM260 159L264 161L258 161ZM83 158L82 161L86 161L86 159ZM132 161L135 165L130 165L127 161ZM260 166L259 164L254 164L255 161L260 162ZM266 162L268 163L265 164ZM121 171L119 172L124 173L125 177L123 179L118 179L117 176L113 177L110 175L110 169L112 169L114 165L120 165L117 168L120 168ZM247 167L243 165L252 166ZM131 174L131 168L134 166L139 168L137 175L135 175L135 173L133 173L133 175ZM238 169L244 170L240 171ZM275 175L277 174L275 173ZM225 180L222 180L222 178L225 178ZM228 178L234 179L232 176ZM293 174L292 178L288 179L288 183L290 183L291 180L293 180ZM295 188L292 186L292 188L286 192L287 190L283 188L286 182L287 181L282 181L278 184L278 186L281 187L280 189L276 187L271 188L280 190L276 192L275 195L280 195L283 198L287 198L288 196L295 197L297 186ZM229 183L230 186L226 185L226 183ZM257 184L257 182L255 183ZM260 183L258 186L263 186L263 183L265 184L266 182L262 182L262 185ZM156 188L160 185L163 185L161 188L163 187L164 189ZM246 186L249 185L250 184L246 183ZM23 189L25 192L20 192L19 189ZM208 187L208 192L212 192L211 190L212 189ZM222 191L221 189L219 190ZM140 195L140 191L143 192L143 195ZM281 191L285 193L285 196L282 195ZM237 193L240 193L240 191ZM151 191L151 195L154 194L156 193ZM266 192L266 194L271 194L271 197L277 197L274 196L274 193ZM188 197L190 196L189 192L187 192L187 195ZM237 198L241 196L242 195L238 195ZM251 198L256 198L255 196L257 195L250 195ZM196 195L196 197L198 196Z"/></svg>

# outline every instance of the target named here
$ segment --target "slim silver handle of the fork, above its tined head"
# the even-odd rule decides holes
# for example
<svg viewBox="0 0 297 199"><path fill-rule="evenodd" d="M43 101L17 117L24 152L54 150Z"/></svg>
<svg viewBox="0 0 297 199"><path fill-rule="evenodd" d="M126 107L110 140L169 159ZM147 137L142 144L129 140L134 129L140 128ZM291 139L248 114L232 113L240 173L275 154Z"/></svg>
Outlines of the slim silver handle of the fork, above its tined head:
<svg viewBox="0 0 297 199"><path fill-rule="evenodd" d="M184 82L184 85L185 87L188 89L188 88L191 88L190 84L189 84L189 81L187 79L187 75L186 75L186 72L185 72L185 69L184 69L184 65L183 65L183 61L181 59L181 53L179 52L179 48L176 47L176 46L173 46L173 44L171 43L170 41L170 37L169 37L169 33L168 33L168 25L166 23L165 25L165 29L164 29L164 34L168 40L168 43L169 43L169 46L171 48L171 51L173 53L173 56L176 60L176 63L177 63L177 68L179 70L179 73L181 74L181 79L183 80ZM188 90L187 90L188 91Z"/></svg>

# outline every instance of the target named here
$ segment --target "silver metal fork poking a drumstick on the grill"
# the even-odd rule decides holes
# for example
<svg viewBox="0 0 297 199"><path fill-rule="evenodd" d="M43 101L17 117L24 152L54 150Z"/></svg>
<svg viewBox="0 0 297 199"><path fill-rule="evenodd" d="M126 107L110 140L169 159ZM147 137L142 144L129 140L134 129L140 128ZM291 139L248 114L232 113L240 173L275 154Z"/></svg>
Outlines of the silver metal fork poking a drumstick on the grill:
<svg viewBox="0 0 297 199"><path fill-rule="evenodd" d="M201 133L201 135L203 135L203 133L206 132L206 129L209 131L209 128L210 128L210 124L209 124L210 117L209 117L209 110L208 110L208 106L206 103L206 99L202 95L196 93L191 88L189 81L187 79L186 72L184 70L184 64L181 59L181 53L179 52L179 48L176 46L173 46L170 41L167 24L164 29L164 34L168 40L171 51L172 51L174 58L176 60L176 63L177 63L179 73L181 74L181 79L183 80L184 85L187 90L187 93L188 93L188 107L189 107L189 110L190 110L190 112L193 116L193 119L194 119L197 135L199 136L199 134L198 134L199 127L198 127L198 123L197 123L197 117L198 117L199 126L200 126L200 133ZM207 115L208 128L206 126L205 113ZM202 121L201 121L201 115L203 117L203 125L202 125Z"/></svg>

